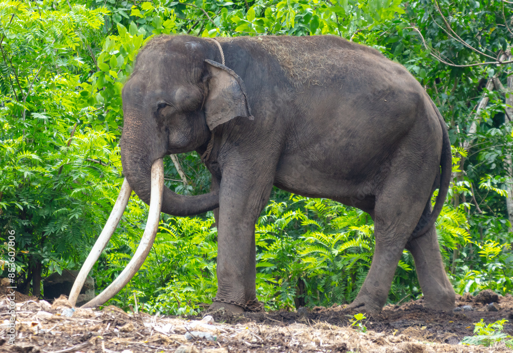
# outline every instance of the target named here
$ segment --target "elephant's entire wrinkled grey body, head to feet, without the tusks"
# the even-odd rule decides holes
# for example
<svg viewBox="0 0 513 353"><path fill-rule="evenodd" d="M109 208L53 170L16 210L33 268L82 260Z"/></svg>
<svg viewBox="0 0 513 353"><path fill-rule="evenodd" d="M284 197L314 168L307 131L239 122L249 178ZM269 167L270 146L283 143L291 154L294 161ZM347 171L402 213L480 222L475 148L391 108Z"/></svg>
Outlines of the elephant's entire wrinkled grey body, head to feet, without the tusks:
<svg viewBox="0 0 513 353"><path fill-rule="evenodd" d="M165 190L162 211L186 216L215 209L216 297L255 298L254 225L276 185L359 207L374 220L376 251L350 308L381 310L406 248L424 305L451 309L455 292L434 226L449 184L450 144L419 82L376 50L339 37L220 42L225 66L212 40L150 41L123 89L121 138L123 172L146 203L154 160L193 150L203 155L211 192ZM243 311L216 301L211 309L219 307Z"/></svg>

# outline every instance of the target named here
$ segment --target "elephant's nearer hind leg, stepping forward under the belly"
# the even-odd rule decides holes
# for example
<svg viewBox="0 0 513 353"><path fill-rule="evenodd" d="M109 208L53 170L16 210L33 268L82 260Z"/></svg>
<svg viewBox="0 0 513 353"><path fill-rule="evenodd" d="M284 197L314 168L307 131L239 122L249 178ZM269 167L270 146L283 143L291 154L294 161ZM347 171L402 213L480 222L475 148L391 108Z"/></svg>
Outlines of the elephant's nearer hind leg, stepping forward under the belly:
<svg viewBox="0 0 513 353"><path fill-rule="evenodd" d="M396 159L383 189L376 195L373 212L376 248L369 273L349 309L379 313L386 303L404 247L423 213L435 180L435 168L421 162L414 165L411 160L415 159L410 156ZM429 168L434 171L430 172Z"/></svg>

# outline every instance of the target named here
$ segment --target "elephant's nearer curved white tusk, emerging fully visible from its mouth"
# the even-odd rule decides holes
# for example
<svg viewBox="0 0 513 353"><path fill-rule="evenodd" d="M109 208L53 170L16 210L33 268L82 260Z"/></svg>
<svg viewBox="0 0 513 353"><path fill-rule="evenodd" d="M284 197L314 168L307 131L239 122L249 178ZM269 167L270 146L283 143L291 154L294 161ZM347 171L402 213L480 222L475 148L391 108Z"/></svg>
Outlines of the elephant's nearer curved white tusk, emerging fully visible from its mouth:
<svg viewBox="0 0 513 353"><path fill-rule="evenodd" d="M144 230L141 242L123 272L117 276L102 293L97 297L84 304L83 308L96 307L104 304L110 298L114 297L135 275L141 268L144 260L148 256L151 245L155 240L157 229L159 227L160 212L162 206L162 191L164 189L164 164L163 160L157 159L151 166L151 196L150 196L150 209L148 211L148 221L146 222L146 229Z"/></svg>

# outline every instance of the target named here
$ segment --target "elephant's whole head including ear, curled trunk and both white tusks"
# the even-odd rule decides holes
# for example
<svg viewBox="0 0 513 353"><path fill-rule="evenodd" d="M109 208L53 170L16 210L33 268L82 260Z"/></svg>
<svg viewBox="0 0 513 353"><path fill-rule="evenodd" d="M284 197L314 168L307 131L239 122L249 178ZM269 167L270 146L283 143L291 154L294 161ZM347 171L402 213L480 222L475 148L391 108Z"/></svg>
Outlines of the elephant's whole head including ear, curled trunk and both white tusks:
<svg viewBox="0 0 513 353"><path fill-rule="evenodd" d="M189 36L157 37L137 56L134 72L123 88L125 120L120 146L125 182L73 284L72 304L119 223L132 189L150 204L140 245L114 282L84 307L102 305L134 276L153 244L161 210L188 216L218 207L214 192L183 196L163 188L162 157L205 148L220 124L238 116L252 118L244 83L219 64L223 57L219 43Z"/></svg>

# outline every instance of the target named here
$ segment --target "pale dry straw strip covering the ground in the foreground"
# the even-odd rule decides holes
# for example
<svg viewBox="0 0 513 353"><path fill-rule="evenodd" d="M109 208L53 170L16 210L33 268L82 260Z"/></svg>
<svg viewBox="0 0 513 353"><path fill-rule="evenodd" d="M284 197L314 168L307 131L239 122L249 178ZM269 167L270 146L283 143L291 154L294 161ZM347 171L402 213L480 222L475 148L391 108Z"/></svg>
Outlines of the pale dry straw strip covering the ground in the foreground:
<svg viewBox="0 0 513 353"><path fill-rule="evenodd" d="M8 318L5 303L0 303L2 321ZM74 311L66 299L53 305L45 301L16 304L15 346L0 343L0 352L505 352L505 346L485 348L429 342L428 330L412 325L394 335L369 330L361 333L351 327L323 321L285 324L268 317L258 323L227 324L185 320L144 313L127 314L114 306L103 310ZM6 321L0 321L0 337L6 336ZM8 321L7 321L8 323ZM422 339L423 335L425 339ZM192 339L189 340L187 337ZM199 336L204 336L200 338ZM421 338L420 340L417 337ZM212 341L215 337L215 341ZM448 334L450 337L450 334ZM432 338L431 338L432 339Z"/></svg>

